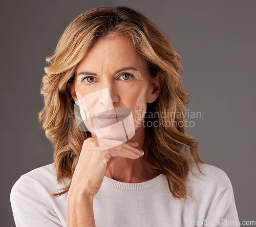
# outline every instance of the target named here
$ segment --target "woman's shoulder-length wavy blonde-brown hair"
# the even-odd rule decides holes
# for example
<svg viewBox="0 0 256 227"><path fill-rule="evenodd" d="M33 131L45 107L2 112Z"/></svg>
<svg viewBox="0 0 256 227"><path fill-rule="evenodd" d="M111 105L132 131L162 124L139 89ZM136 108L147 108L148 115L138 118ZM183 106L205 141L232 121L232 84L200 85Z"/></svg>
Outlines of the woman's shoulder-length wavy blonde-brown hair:
<svg viewBox="0 0 256 227"><path fill-rule="evenodd" d="M72 179L82 144L91 137L90 132L78 129L75 102L67 84L73 83L76 67L85 54L109 34L131 38L147 65L150 79L160 71L164 74L161 93L153 103L147 104L145 116L147 122L157 120L163 124L145 127L142 157L148 166L167 177L169 190L175 198L186 200L189 163L195 163L200 170L198 164L203 162L198 154L198 141L185 134L184 116L189 94L181 84L182 60L168 37L153 22L127 7L100 7L79 15L60 37L54 54L46 58L50 65L45 67L46 75L40 88L45 105L38 116L46 137L54 144L57 181L60 183L63 177ZM148 116L149 112L166 110L172 115ZM176 124L167 126L167 122ZM69 188L70 185L53 195L63 195Z"/></svg>

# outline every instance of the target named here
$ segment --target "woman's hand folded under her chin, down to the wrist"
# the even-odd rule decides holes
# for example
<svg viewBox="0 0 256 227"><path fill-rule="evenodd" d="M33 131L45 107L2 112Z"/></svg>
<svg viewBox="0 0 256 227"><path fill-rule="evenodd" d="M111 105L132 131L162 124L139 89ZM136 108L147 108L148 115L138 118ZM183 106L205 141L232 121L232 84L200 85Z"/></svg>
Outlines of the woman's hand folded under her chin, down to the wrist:
<svg viewBox="0 0 256 227"><path fill-rule="evenodd" d="M111 141L108 140L109 143ZM144 154L142 150L136 149L137 146L137 142L125 142L110 149L100 150L96 138L86 139L73 174L70 191L82 197L94 197L101 187L106 170L118 156L136 159Z"/></svg>

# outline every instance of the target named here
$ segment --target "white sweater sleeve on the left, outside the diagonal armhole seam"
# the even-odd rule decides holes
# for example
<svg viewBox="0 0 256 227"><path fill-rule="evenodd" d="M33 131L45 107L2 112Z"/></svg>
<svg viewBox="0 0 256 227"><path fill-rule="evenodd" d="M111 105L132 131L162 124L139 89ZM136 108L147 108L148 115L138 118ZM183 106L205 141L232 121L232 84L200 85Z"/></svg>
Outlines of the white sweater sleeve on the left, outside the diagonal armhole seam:
<svg viewBox="0 0 256 227"><path fill-rule="evenodd" d="M47 197L28 176L16 181L10 201L17 227L62 226Z"/></svg>

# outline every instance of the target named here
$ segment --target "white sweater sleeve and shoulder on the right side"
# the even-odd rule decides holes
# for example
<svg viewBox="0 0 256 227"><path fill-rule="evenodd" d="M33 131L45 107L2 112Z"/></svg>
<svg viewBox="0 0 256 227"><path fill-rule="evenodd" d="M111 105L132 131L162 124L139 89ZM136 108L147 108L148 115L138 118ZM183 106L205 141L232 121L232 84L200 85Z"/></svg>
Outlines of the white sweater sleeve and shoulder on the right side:
<svg viewBox="0 0 256 227"><path fill-rule="evenodd" d="M203 211L204 223L239 221L233 187L225 171L209 164L199 164L199 168L204 175L201 174L198 179L190 174L190 179L198 206ZM199 175L200 171L195 166L192 169Z"/></svg>

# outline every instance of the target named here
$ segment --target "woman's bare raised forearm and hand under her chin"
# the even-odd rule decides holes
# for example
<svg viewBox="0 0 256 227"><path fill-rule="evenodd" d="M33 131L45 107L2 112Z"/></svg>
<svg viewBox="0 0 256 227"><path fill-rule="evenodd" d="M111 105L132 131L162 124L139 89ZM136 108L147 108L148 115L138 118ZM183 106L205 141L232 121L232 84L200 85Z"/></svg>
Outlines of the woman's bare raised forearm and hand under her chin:
<svg viewBox="0 0 256 227"><path fill-rule="evenodd" d="M112 141L111 141L112 142ZM99 191L106 169L118 156L136 159L143 151L138 143L126 142L100 150L94 138L84 141L67 199L67 226L94 227L93 198Z"/></svg>

